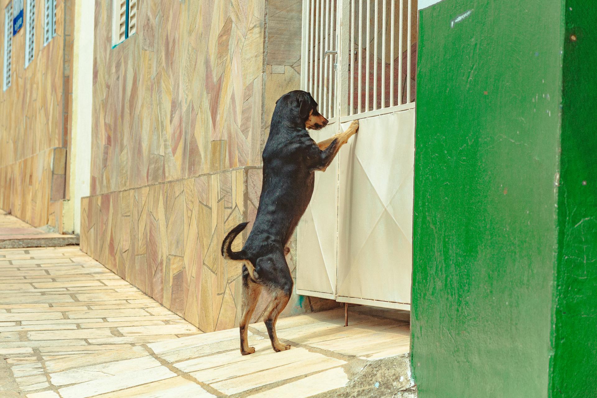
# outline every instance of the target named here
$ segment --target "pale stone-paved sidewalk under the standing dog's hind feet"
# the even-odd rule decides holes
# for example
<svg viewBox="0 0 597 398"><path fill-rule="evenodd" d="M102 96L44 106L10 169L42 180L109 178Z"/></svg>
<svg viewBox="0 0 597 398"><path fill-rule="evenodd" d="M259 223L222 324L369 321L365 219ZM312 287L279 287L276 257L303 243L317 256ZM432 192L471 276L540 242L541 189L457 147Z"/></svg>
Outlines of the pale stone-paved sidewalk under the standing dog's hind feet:
<svg viewBox="0 0 597 398"><path fill-rule="evenodd" d="M414 397L408 313L350 308L201 334L81 251L0 250L0 396Z"/></svg>

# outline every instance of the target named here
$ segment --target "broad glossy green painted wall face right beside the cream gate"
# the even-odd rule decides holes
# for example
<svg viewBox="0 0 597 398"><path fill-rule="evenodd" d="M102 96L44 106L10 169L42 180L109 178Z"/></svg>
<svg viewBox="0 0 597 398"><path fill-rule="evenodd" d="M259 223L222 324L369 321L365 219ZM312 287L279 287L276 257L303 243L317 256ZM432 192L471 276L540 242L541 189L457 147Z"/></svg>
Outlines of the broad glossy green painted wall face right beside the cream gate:
<svg viewBox="0 0 597 398"><path fill-rule="evenodd" d="M561 0L445 0L420 13L411 327L421 398L548 395L562 13Z"/></svg>

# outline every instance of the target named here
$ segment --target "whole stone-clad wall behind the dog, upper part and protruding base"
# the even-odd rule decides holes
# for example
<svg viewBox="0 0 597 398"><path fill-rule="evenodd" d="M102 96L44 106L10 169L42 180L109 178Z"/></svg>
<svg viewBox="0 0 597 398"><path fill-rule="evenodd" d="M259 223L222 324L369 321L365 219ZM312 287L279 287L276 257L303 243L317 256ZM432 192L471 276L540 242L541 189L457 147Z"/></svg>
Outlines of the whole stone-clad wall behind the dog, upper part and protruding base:
<svg viewBox="0 0 597 398"><path fill-rule="evenodd" d="M81 249L204 332L239 322L241 269L220 246L232 227L254 220L273 104L300 86L300 17L285 81L267 64L280 38L264 30L281 30L296 8L269 20L264 0L146 0L137 33L112 48L112 10L96 1L92 196L82 200ZM293 275L294 252L291 242ZM333 306L294 295L282 315Z"/></svg>

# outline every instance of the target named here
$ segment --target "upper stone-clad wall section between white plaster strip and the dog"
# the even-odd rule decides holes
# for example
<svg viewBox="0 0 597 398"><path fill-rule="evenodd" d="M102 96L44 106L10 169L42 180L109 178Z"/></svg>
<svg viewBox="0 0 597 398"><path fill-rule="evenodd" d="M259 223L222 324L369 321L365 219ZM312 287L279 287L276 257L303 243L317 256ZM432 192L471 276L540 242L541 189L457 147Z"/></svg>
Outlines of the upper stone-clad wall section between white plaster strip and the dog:
<svg viewBox="0 0 597 398"><path fill-rule="evenodd" d="M91 195L260 164L263 0L96 1Z"/></svg>

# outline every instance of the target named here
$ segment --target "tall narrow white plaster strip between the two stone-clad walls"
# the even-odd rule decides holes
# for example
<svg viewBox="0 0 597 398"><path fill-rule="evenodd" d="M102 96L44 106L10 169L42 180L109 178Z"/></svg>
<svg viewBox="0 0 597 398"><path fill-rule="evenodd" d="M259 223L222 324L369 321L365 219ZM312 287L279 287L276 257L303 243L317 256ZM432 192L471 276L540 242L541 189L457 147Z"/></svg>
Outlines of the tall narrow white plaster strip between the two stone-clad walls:
<svg viewBox="0 0 597 398"><path fill-rule="evenodd" d="M75 4L69 203L75 233L81 228L81 198L90 194L94 11L93 1L77 1Z"/></svg>

